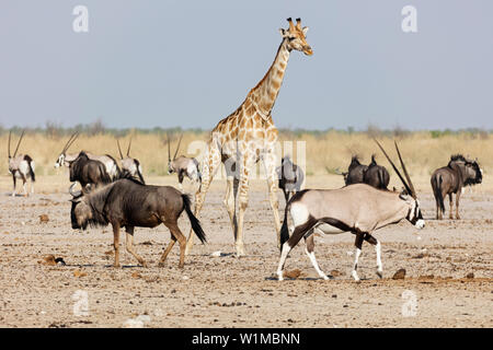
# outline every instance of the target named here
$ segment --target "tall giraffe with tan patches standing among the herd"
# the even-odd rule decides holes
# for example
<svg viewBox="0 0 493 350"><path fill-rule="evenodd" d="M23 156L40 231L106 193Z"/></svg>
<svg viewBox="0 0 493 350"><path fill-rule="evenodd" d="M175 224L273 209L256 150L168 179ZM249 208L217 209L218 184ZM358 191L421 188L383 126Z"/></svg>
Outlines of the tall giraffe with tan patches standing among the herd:
<svg viewBox="0 0 493 350"><path fill-rule="evenodd" d="M225 164L227 188L225 205L234 233L237 256L244 255L243 219L249 200L249 178L253 165L263 161L267 177L268 197L274 211L277 244L279 244L280 220L277 200L277 174L275 143L277 128L274 126L271 112L279 93L291 50L302 51L307 56L313 54L306 40L308 27L301 27L301 20L288 20L289 28L280 28L283 40L274 62L264 78L246 95L244 102L231 115L220 120L214 128L203 160L202 186L196 192L195 215L198 215L205 196L219 168ZM239 214L237 217L237 201ZM193 234L187 240L185 254L193 247Z"/></svg>

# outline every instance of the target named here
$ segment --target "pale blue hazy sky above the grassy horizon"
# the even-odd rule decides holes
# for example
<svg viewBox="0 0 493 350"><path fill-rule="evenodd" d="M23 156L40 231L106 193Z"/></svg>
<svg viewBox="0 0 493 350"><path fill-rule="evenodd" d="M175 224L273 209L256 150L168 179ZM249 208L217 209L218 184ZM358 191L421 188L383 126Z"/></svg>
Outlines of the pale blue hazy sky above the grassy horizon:
<svg viewBox="0 0 493 350"><path fill-rule="evenodd" d="M72 31L77 4L89 33ZM493 129L492 13L488 0L3 0L0 124L210 129L300 16L314 54L291 54L278 127Z"/></svg>

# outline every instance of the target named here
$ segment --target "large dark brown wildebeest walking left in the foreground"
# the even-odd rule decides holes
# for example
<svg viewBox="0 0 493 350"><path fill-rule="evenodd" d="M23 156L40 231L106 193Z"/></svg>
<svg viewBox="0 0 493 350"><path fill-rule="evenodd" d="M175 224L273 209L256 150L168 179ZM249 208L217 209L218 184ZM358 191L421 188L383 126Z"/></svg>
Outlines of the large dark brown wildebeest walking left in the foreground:
<svg viewBox="0 0 493 350"><path fill-rule="evenodd" d="M188 215L192 230L204 243L206 237L197 218L190 209L190 198L182 195L171 186L142 185L133 177L122 178L113 184L100 187L82 195L81 191L70 194L73 196L70 212L72 229L85 230L88 224L93 226L106 226L112 224L114 236L115 262L119 266L119 228L125 226L126 247L140 265L146 261L134 250L134 229L156 228L163 223L171 232L171 242L161 256L159 266L164 265L168 253L174 243L180 244L180 265L182 268L185 258L186 238L177 226L177 220L183 212Z"/></svg>

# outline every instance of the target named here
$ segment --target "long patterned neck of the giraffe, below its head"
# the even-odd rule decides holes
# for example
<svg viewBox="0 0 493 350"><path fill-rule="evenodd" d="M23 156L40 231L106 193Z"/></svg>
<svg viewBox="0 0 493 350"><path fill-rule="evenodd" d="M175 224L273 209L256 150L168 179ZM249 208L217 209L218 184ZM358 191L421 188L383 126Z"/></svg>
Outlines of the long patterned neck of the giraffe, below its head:
<svg viewBox="0 0 493 350"><path fill-rule="evenodd" d="M288 60L289 50L286 45L286 39L284 39L267 73L249 93L249 96L256 103L261 113L265 115L271 114L274 107L280 85L283 84Z"/></svg>

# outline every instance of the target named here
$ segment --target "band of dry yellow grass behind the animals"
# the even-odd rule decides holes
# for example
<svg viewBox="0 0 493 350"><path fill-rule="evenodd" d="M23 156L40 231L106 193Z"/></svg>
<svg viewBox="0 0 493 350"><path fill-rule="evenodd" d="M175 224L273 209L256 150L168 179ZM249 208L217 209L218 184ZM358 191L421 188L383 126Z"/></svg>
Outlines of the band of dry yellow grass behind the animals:
<svg viewBox="0 0 493 350"><path fill-rule="evenodd" d="M180 154L188 156L199 155L199 149L205 147L208 132L185 132ZM378 150L368 133L347 133L329 131L325 133L295 133L282 132L280 144L284 141L294 142L294 159L297 161L296 142L306 142L306 170L311 175L328 175L339 170L346 170L352 154L358 154L364 163L368 163L372 153L377 154L377 161L390 167L381 152ZM18 136L13 138L15 142ZM48 137L44 132L31 132L24 138L20 153L28 153L36 162L36 174L39 176L57 175L60 172L54 168L54 163L61 151L67 137ZM122 147L126 148L129 136L122 138ZM393 149L393 137L380 136L383 147L391 156L397 155ZM0 136L0 144L7 152L8 133ZM176 147L176 137L172 141L172 153ZM493 139L490 135L474 136L471 133L446 135L433 137L432 132L411 132L399 137L399 145L413 177L423 178L427 183L432 172L447 164L450 154L463 153L471 158L478 158L484 170L485 179L493 171ZM115 137L110 133L95 136L81 135L73 143L70 151L87 150L94 153L108 153L118 158ZM188 151L188 152L187 152ZM124 151L125 152L125 151ZM290 151L287 151L291 153ZM167 174L168 148L165 139L159 133L137 132L133 137L130 154L139 159L144 165L146 176L163 176ZM173 155L173 154L172 154ZM0 174L7 174L7 161L0 163ZM390 170L389 170L390 171ZM392 175L392 171L390 172ZM56 176L57 177L57 176Z"/></svg>

